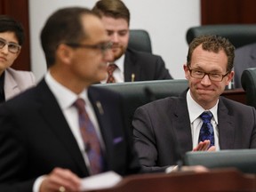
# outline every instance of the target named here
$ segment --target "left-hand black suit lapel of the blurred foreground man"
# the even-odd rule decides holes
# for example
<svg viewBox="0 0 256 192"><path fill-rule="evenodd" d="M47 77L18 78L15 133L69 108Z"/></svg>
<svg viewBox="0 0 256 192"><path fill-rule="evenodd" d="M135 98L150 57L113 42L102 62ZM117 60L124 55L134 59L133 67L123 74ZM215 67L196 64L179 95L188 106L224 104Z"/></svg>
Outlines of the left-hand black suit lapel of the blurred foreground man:
<svg viewBox="0 0 256 192"><path fill-rule="evenodd" d="M71 132L67 120L64 117L60 106L55 99L54 95L50 91L47 84L43 80L37 86L39 89L39 95L41 95L40 103L42 116L46 122L48 122L50 129L56 135L58 140L62 142L63 147L67 149L70 156L72 156L74 162L78 166L81 175L88 175L86 165L84 163L84 157L77 145L76 139Z"/></svg>

